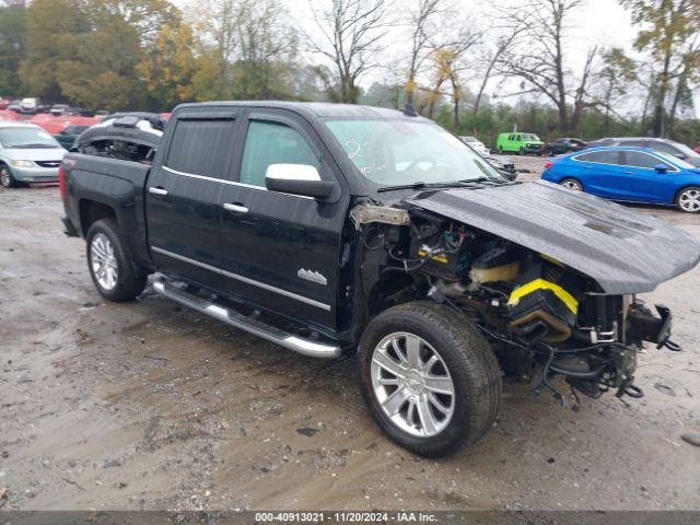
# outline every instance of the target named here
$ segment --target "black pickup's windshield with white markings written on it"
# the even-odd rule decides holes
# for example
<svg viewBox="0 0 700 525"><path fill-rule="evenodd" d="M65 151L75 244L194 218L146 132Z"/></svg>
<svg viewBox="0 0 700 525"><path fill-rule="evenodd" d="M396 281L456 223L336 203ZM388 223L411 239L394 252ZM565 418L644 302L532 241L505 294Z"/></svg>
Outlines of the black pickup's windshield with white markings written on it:
<svg viewBox="0 0 700 525"><path fill-rule="evenodd" d="M348 119L326 126L360 173L378 186L503 182L462 140L432 122Z"/></svg>

